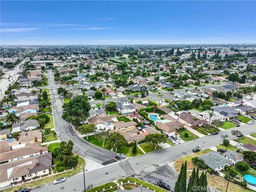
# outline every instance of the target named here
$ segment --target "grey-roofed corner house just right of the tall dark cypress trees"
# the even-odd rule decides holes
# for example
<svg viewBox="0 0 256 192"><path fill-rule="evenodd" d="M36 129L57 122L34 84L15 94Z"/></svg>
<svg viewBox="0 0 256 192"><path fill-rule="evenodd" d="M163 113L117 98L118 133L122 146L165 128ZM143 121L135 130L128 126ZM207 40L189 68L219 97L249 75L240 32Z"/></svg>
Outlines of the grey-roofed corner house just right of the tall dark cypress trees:
<svg viewBox="0 0 256 192"><path fill-rule="evenodd" d="M226 158L225 156L221 155L216 151L201 155L198 158L202 159L207 167L211 168L214 171L221 171L225 169L225 166L231 166L233 164L230 159Z"/></svg>

